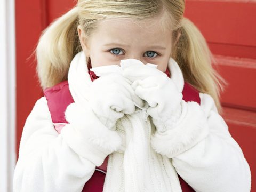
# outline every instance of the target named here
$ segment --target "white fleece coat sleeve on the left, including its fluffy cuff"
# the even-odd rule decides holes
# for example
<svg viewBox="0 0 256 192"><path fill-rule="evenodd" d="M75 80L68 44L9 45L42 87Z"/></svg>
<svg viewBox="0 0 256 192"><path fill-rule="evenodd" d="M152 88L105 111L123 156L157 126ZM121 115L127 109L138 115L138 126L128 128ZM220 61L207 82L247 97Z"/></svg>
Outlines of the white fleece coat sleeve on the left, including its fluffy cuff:
<svg viewBox="0 0 256 192"><path fill-rule="evenodd" d="M92 114L87 116L93 121L95 117L89 115ZM58 134L52 124L46 98L39 99L23 128L13 177L14 192L82 191L95 166L100 166L111 153L111 150L90 141L88 135L92 136L92 123L84 122L70 123ZM98 131L95 133L98 139L118 137L115 133L105 135L106 131L100 130L103 127L93 129ZM86 134L88 132L90 134Z"/></svg>

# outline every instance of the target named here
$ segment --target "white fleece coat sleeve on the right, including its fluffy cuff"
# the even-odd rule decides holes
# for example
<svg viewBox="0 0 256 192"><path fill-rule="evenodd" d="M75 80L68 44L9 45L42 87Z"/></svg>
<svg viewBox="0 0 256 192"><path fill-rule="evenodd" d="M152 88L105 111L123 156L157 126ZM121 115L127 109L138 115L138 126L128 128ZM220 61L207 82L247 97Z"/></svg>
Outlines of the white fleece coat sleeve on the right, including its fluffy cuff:
<svg viewBox="0 0 256 192"><path fill-rule="evenodd" d="M177 130L156 133L153 148L172 158L177 173L195 191L250 192L251 171L241 148L231 137L212 97L199 95L201 105L186 103L183 124Z"/></svg>

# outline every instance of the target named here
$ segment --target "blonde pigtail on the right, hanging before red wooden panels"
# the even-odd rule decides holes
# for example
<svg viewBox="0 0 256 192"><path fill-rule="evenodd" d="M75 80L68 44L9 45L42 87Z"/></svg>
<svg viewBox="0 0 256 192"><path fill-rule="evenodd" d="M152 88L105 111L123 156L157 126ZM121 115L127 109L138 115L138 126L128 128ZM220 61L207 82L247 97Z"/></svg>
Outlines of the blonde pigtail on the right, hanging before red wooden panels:
<svg viewBox="0 0 256 192"><path fill-rule="evenodd" d="M182 19L179 32L181 35L177 45L174 46L172 57L179 63L185 81L193 85L199 92L211 95L221 113L219 97L226 81L211 65L211 63L215 65L216 62L205 38L193 22L187 18Z"/></svg>

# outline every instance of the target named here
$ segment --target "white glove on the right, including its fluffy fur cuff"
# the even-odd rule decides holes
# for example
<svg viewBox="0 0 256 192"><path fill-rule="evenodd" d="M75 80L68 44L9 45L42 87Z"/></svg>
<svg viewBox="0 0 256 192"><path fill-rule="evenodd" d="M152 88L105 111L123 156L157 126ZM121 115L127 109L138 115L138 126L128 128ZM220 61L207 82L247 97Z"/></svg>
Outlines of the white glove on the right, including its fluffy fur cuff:
<svg viewBox="0 0 256 192"><path fill-rule="evenodd" d="M151 137L152 148L169 158L192 148L209 134L201 106L194 101L182 100L182 89L178 86L182 84L181 77L177 76L178 73L171 75L169 78L140 61L136 66L126 65L123 69L123 76L133 82L135 94L148 102L147 113L157 129Z"/></svg>

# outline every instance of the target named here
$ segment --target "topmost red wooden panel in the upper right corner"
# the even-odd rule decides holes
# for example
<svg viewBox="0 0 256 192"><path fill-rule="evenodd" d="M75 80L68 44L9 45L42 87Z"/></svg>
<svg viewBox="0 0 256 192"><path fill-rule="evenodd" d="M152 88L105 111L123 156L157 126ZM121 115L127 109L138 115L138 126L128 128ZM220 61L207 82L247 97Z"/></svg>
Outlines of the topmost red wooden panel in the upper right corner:
<svg viewBox="0 0 256 192"><path fill-rule="evenodd" d="M216 54L256 57L255 1L187 0L185 17L201 30L210 44L223 44L212 51ZM202 17L203 15L203 17ZM227 45L241 46L242 52L227 50ZM247 48L246 48L247 47ZM249 50L254 50L254 53ZM247 51L246 51L247 50ZM215 52L216 51L216 52Z"/></svg>

